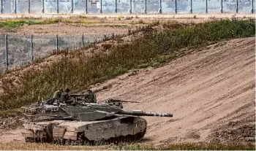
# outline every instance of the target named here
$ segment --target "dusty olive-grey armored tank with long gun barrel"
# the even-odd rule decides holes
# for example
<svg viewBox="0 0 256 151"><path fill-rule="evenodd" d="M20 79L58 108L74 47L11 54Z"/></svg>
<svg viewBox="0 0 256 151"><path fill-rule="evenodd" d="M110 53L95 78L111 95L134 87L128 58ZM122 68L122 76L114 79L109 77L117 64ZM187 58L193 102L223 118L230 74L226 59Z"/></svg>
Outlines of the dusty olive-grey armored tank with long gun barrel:
<svg viewBox="0 0 256 151"><path fill-rule="evenodd" d="M109 102L110 104L113 101ZM26 142L102 145L139 142L147 122L140 116L173 117L168 113L127 111L106 103L32 104L23 107Z"/></svg>

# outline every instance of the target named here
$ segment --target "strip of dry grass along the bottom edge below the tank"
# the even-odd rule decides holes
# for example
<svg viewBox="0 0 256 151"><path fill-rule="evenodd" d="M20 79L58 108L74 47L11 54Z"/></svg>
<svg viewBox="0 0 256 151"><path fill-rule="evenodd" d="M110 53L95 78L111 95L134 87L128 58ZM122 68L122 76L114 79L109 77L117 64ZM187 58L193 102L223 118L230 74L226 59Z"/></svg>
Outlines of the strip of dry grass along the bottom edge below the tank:
<svg viewBox="0 0 256 151"><path fill-rule="evenodd" d="M176 143L162 144L118 144L108 146L61 146L56 144L35 144L23 142L0 143L0 150L255 150L254 143Z"/></svg>

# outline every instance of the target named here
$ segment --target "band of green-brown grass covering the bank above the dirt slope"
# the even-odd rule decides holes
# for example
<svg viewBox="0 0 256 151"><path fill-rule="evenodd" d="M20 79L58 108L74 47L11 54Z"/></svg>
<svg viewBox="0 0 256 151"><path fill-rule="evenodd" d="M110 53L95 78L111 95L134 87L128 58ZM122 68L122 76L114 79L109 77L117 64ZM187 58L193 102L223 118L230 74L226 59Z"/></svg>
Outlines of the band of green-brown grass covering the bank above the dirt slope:
<svg viewBox="0 0 256 151"><path fill-rule="evenodd" d="M85 90L89 85L124 74L130 69L159 66L186 53L186 47L198 47L219 40L255 36L255 23L249 20L215 20L192 26L173 25L174 29L159 32L151 26L144 36L129 44L114 45L108 53L89 57L80 51L64 52L63 58L42 71L30 71L15 88L11 80L3 81L4 93L0 111L17 109L50 98L59 88ZM82 49L83 50L83 49ZM4 116L4 114L2 114Z"/></svg>

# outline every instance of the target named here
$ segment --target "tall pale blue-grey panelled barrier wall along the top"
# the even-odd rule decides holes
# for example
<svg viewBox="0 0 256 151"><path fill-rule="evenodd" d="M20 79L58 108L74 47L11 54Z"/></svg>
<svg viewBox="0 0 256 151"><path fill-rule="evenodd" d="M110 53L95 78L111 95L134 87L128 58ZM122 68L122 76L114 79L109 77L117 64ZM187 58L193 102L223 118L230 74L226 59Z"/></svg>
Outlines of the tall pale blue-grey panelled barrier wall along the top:
<svg viewBox="0 0 256 151"><path fill-rule="evenodd" d="M0 0L1 14L255 13L256 0Z"/></svg>

